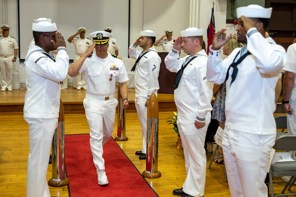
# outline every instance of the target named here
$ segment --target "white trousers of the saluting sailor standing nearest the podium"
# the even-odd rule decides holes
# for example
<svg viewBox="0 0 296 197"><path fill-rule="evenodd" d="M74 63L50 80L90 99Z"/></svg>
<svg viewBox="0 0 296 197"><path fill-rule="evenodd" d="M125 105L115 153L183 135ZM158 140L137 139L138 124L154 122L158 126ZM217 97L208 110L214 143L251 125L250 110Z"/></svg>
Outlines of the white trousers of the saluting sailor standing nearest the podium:
<svg viewBox="0 0 296 197"><path fill-rule="evenodd" d="M156 94L157 96L157 94ZM138 113L139 121L142 127L142 153L147 153L147 107L145 103L147 101L147 95L135 94L135 106Z"/></svg>

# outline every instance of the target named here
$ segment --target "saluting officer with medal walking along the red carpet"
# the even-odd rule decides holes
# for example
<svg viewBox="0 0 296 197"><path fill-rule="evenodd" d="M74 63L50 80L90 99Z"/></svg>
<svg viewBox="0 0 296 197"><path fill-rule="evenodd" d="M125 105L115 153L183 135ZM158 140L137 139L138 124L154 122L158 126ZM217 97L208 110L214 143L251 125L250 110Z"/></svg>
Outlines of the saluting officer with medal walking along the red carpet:
<svg viewBox="0 0 296 197"><path fill-rule="evenodd" d="M105 31L93 32L89 35L94 44L75 61L69 69L74 77L84 72L86 79L86 97L83 100L87 122L90 127L90 145L96 167L98 184L108 184L105 172L103 145L109 141L115 121L118 101L115 99L116 82L123 97L123 109L128 107L128 75L120 57L107 52L108 41L112 34ZM96 53L91 55L93 49ZM91 55L91 56L90 56Z"/></svg>

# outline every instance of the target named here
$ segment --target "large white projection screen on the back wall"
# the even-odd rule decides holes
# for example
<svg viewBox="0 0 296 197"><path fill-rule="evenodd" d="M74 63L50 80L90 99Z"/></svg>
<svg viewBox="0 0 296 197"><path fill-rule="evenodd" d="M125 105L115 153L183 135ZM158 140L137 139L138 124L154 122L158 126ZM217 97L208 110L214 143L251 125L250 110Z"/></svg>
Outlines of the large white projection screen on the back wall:
<svg viewBox="0 0 296 197"><path fill-rule="evenodd" d="M50 18L57 24L67 45L67 54L74 59L74 44L67 39L85 27L88 38L105 27L113 29L112 35L119 45L121 57L128 57L128 0L19 0L20 59L25 59L33 40L33 19Z"/></svg>

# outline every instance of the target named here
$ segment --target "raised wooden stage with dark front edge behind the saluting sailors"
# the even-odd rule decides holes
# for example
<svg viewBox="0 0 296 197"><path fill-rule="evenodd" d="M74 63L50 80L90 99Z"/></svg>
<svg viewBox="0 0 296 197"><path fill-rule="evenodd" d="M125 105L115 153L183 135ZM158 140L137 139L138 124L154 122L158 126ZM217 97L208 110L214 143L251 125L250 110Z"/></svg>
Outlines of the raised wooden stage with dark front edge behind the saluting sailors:
<svg viewBox="0 0 296 197"><path fill-rule="evenodd" d="M0 115L22 115L26 92L26 89L0 92ZM68 89L61 89L65 114L84 114L83 99L85 93L85 90L76 90L73 86L68 86ZM128 89L128 97L129 108L126 113L135 113L135 88ZM158 94L157 99L160 112L177 110L173 94Z"/></svg>

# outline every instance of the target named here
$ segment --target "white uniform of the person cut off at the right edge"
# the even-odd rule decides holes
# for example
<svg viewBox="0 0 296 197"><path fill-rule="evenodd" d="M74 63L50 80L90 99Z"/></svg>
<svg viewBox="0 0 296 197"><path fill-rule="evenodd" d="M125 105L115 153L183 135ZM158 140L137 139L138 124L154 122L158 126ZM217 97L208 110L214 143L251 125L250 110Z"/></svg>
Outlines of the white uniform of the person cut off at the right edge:
<svg viewBox="0 0 296 197"><path fill-rule="evenodd" d="M296 73L296 43L289 46L287 50L287 62L284 71ZM287 130L289 134L296 134L296 78L292 89L289 104L293 110L292 115L287 114Z"/></svg>

